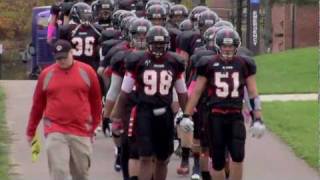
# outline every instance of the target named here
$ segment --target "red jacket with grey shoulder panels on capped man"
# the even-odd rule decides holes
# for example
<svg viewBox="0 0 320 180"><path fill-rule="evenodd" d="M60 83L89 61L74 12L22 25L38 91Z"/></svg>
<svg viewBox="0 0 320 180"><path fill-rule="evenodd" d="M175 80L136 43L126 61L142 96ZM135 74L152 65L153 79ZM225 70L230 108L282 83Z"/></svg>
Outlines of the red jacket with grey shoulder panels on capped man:
<svg viewBox="0 0 320 180"><path fill-rule="evenodd" d="M69 69L53 64L39 76L27 127L33 137L40 120L45 135L60 132L91 137L101 120L101 91L95 71L74 61Z"/></svg>

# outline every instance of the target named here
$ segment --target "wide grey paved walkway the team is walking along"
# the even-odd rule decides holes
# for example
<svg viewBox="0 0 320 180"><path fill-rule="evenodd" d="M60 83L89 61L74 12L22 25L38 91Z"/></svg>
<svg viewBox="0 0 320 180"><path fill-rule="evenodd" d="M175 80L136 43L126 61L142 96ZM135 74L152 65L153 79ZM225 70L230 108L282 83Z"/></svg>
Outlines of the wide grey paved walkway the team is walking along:
<svg viewBox="0 0 320 180"><path fill-rule="evenodd" d="M37 163L31 163L30 148L25 140L25 128L31 108L35 81L0 81L6 92L6 119L12 133L11 160L13 180L48 180L45 153ZM43 142L43 141L42 141ZM257 140L248 136L244 180L319 180L319 174L272 133ZM102 135L94 144L90 180L121 180L113 171L113 144ZM175 173L179 159L173 156L168 180L189 179Z"/></svg>

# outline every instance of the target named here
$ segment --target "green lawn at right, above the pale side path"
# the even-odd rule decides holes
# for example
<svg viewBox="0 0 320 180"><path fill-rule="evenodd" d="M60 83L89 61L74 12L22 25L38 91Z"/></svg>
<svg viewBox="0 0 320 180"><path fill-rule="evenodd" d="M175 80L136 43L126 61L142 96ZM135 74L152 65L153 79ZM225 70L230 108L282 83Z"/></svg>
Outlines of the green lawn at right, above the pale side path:
<svg viewBox="0 0 320 180"><path fill-rule="evenodd" d="M317 92L318 48L257 56L261 94Z"/></svg>

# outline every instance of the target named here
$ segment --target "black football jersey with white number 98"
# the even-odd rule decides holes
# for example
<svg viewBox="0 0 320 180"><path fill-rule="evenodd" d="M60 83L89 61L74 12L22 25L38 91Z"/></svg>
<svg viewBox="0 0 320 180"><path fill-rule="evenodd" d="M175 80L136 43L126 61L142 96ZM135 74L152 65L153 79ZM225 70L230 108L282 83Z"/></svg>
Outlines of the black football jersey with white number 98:
<svg viewBox="0 0 320 180"><path fill-rule="evenodd" d="M137 103L150 107L168 107L172 103L172 88L184 72L179 55L167 52L155 59L147 51L132 52L125 59L126 70L136 80Z"/></svg>

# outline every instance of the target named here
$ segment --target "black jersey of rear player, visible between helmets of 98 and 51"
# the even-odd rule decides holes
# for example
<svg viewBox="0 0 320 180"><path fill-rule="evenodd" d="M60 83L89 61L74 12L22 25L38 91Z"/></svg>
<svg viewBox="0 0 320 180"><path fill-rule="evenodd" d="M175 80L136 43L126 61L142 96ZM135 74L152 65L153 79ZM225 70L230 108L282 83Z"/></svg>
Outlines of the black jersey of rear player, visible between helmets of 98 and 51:
<svg viewBox="0 0 320 180"><path fill-rule="evenodd" d="M181 32L176 41L176 48L187 52L189 56L195 52L196 48L204 45L200 32L193 30Z"/></svg>

